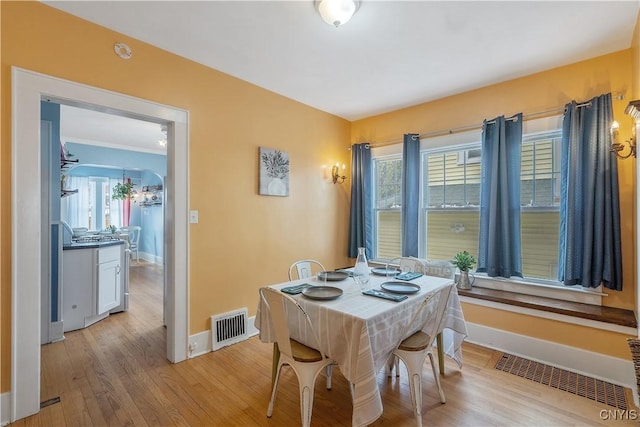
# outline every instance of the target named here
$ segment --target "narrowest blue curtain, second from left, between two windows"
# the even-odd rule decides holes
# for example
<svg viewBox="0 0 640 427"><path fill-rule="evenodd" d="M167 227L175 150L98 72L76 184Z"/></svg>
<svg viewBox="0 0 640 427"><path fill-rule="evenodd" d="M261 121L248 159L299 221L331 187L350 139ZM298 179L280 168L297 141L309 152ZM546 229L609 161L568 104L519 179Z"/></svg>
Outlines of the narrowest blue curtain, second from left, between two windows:
<svg viewBox="0 0 640 427"><path fill-rule="evenodd" d="M402 147L402 256L418 256L420 136L404 135Z"/></svg>

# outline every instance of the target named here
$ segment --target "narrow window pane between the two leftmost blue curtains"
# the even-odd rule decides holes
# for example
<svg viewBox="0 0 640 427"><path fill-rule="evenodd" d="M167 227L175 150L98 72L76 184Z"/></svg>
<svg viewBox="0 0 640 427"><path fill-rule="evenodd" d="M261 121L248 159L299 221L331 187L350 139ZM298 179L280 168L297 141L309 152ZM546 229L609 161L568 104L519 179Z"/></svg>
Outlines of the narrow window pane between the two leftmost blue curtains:
<svg viewBox="0 0 640 427"><path fill-rule="evenodd" d="M402 251L402 159L385 158L374 168L374 258L391 259Z"/></svg>

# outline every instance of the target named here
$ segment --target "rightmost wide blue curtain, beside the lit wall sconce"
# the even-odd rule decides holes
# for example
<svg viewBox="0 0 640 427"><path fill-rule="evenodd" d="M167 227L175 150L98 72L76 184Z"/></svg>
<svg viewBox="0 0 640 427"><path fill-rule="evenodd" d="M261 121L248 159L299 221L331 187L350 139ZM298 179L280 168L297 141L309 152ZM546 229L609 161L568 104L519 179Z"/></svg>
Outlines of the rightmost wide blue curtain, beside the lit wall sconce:
<svg viewBox="0 0 640 427"><path fill-rule="evenodd" d="M618 165L611 94L565 107L558 280L622 290Z"/></svg>

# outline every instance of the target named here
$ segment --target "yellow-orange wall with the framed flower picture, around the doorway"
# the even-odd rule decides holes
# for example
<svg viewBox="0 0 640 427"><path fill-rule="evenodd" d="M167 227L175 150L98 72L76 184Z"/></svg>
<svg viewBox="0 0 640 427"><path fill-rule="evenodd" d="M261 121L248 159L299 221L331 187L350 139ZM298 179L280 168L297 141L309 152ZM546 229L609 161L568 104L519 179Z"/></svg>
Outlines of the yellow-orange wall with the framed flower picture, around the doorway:
<svg viewBox="0 0 640 427"><path fill-rule="evenodd" d="M190 208L199 210L190 226L190 334L209 329L212 314L248 307L253 315L258 287L287 280L297 258L348 264L349 181L334 185L324 166L349 163L349 122L41 3L0 5L1 391L10 388L11 66L189 111ZM130 60L114 54L119 41ZM289 197L258 195L260 146L289 153Z"/></svg>

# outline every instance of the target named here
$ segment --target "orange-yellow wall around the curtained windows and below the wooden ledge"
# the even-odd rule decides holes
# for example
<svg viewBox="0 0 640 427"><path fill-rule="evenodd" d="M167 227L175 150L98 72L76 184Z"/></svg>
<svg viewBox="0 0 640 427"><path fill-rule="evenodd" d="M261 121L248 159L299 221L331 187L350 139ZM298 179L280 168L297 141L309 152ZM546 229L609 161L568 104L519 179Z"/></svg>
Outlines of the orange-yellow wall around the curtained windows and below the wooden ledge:
<svg viewBox="0 0 640 427"><path fill-rule="evenodd" d="M631 135L632 120L624 114L634 79L632 49L588 61L502 82L496 85L447 97L418 106L381 114L352 123L353 142L398 140L402 134L429 133L475 125L499 115L530 113L561 108L575 99L585 101L606 92L625 93L623 101L614 101L614 118L621 124L620 137ZM635 309L635 159L620 160L620 210L622 224L623 283L621 292L609 291L604 305ZM608 355L629 358L624 335L595 331L573 325L557 325L548 320L464 304L465 318L473 323L523 335L559 342ZM553 325L553 326L551 326ZM574 336L590 339L573 339ZM591 338L598 338L591 339ZM598 342L596 342L598 341ZM602 342L611 343L603 345Z"/></svg>

